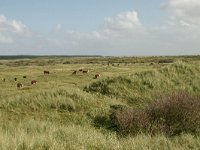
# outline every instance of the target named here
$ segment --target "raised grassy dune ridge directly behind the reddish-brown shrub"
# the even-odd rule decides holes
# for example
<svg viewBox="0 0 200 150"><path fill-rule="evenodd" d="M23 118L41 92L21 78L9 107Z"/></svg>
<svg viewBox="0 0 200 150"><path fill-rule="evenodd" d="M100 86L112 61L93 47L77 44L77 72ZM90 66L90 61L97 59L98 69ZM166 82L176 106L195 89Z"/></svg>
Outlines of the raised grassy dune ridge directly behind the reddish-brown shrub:
<svg viewBox="0 0 200 150"><path fill-rule="evenodd" d="M93 82L84 88L90 93L116 97L130 106L147 104L161 93L186 90L200 91L200 68L196 64L176 62L159 69L118 75Z"/></svg>

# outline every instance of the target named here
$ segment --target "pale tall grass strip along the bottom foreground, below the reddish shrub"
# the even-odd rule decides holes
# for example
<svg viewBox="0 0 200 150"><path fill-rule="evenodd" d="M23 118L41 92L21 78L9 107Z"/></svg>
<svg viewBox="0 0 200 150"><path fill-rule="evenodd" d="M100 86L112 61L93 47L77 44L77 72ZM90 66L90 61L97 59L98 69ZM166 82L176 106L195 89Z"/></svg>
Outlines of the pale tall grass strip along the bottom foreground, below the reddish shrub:
<svg viewBox="0 0 200 150"><path fill-rule="evenodd" d="M200 139L189 134L167 138L119 138L115 133L103 133L91 126L61 125L48 121L24 119L0 126L1 149L199 149ZM12 141L12 144L10 143Z"/></svg>

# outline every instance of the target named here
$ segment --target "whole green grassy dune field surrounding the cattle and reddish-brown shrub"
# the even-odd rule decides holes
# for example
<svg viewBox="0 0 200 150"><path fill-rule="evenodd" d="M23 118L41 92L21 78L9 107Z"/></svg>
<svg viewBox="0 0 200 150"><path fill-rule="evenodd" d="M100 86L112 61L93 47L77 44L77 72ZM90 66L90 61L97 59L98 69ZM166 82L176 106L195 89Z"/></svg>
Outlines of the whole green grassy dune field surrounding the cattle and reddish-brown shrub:
<svg viewBox="0 0 200 150"><path fill-rule="evenodd" d="M2 59L0 149L200 149L200 126L175 136L122 135L111 119L174 91L200 97L199 66L199 56Z"/></svg>

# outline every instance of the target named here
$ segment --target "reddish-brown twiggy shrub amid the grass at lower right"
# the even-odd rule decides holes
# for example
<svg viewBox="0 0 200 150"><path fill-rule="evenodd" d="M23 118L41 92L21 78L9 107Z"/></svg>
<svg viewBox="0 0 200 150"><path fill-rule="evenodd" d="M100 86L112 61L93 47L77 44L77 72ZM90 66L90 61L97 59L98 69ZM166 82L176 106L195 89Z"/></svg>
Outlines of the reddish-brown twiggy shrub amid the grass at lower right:
<svg viewBox="0 0 200 150"><path fill-rule="evenodd" d="M113 122L121 134L195 134L200 131L200 98L178 91L157 99L144 109L117 111L114 116Z"/></svg>

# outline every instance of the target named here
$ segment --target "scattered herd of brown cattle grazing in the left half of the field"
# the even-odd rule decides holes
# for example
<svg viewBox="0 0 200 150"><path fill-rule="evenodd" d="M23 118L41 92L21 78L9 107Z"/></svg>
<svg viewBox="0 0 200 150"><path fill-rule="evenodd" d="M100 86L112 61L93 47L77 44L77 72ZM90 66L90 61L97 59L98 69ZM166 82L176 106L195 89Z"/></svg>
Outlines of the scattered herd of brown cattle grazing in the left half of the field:
<svg viewBox="0 0 200 150"><path fill-rule="evenodd" d="M89 70L87 69L87 70L84 70L84 69L79 69L79 70L74 70L73 72L72 72L72 74L73 75L76 75L76 74L78 74L78 72L82 72L83 74L87 74L87 73L89 73ZM47 70L45 70L44 71L44 75L49 75L50 74L50 72L49 71L47 71ZM100 74L98 73L98 74L95 74L95 76L94 76L94 79L97 79L97 78L99 78L100 77ZM27 76L23 76L23 78L24 79L26 79L27 78ZM18 81L18 78L14 78L14 81L15 82L17 82ZM2 78L2 82L6 82L6 78ZM32 80L31 81L31 85L35 85L37 83L37 81L36 80ZM17 83L17 88L18 89L20 89L20 88L22 88L23 87L23 84L21 83L21 82L18 82Z"/></svg>

